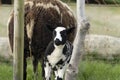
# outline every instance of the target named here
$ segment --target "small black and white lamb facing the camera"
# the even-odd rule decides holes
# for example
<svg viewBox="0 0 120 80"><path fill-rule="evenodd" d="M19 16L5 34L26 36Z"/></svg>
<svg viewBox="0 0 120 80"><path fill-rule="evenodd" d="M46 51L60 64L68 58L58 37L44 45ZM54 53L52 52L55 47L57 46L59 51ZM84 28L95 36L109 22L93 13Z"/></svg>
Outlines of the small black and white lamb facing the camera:
<svg viewBox="0 0 120 80"><path fill-rule="evenodd" d="M73 45L67 40L64 27L57 27L53 31L53 39L48 44L43 62L44 78L51 80L51 71L55 73L55 80L63 80L63 76L72 55Z"/></svg>

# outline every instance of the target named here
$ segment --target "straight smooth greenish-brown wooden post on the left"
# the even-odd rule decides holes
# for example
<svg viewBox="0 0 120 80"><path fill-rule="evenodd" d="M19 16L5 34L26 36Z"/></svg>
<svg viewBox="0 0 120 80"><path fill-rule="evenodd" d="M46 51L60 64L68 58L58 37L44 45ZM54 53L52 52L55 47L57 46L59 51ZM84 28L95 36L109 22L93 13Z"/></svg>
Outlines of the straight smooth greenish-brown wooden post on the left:
<svg viewBox="0 0 120 80"><path fill-rule="evenodd" d="M13 79L23 80L24 0L14 0Z"/></svg>

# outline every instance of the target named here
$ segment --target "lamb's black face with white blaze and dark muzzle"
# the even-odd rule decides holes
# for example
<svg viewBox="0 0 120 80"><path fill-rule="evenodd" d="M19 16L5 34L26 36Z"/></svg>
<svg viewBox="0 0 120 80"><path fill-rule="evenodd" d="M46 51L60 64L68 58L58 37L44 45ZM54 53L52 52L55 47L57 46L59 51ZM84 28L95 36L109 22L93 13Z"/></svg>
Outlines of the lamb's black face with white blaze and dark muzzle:
<svg viewBox="0 0 120 80"><path fill-rule="evenodd" d="M66 42L66 38L67 38L66 28L57 27L53 31L53 38L54 38L55 45L57 45L57 46L64 45Z"/></svg>

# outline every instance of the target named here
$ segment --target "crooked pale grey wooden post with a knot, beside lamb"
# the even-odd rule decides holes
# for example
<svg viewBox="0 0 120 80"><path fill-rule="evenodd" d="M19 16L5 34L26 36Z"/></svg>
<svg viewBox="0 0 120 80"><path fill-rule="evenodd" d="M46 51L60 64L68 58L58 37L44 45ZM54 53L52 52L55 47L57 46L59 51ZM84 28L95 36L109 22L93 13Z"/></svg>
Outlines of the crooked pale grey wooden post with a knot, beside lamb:
<svg viewBox="0 0 120 80"><path fill-rule="evenodd" d="M73 43L73 55L66 71L65 80L76 80L81 55L84 53L84 40L88 29L89 22L85 16L85 0L77 0L77 33Z"/></svg>

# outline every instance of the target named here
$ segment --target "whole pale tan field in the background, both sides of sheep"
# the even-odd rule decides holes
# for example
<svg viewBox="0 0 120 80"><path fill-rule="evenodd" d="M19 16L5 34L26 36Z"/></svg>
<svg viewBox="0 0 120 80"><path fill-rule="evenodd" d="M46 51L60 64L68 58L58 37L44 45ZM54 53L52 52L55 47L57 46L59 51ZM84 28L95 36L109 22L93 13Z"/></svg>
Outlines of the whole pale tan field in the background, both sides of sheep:
<svg viewBox="0 0 120 80"><path fill-rule="evenodd" d="M76 15L75 3L70 3ZM7 36L7 19L13 6L0 6L0 36ZM86 16L90 21L90 34L120 37L120 7L113 5L86 5Z"/></svg>

